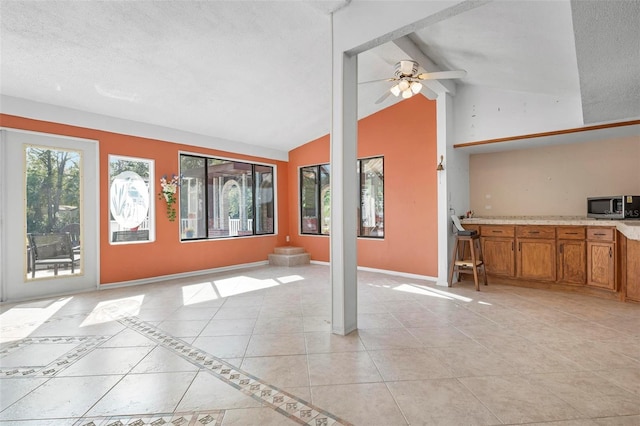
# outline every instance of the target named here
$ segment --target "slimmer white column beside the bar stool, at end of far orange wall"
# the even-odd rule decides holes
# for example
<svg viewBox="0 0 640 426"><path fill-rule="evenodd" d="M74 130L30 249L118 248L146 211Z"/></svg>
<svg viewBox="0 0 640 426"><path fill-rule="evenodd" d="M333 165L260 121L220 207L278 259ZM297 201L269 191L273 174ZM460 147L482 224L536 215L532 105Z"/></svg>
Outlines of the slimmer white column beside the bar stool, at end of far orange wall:
<svg viewBox="0 0 640 426"><path fill-rule="evenodd" d="M447 155L447 138L451 134L451 95L441 93L436 100L436 123L437 123L437 158L433 167L437 167L440 156L444 157L444 170L438 173L438 282L440 286L448 286L449 271L449 234L450 234L450 213L449 213L449 185L448 173L451 171L453 161ZM427 163L428 167L432 163Z"/></svg>

